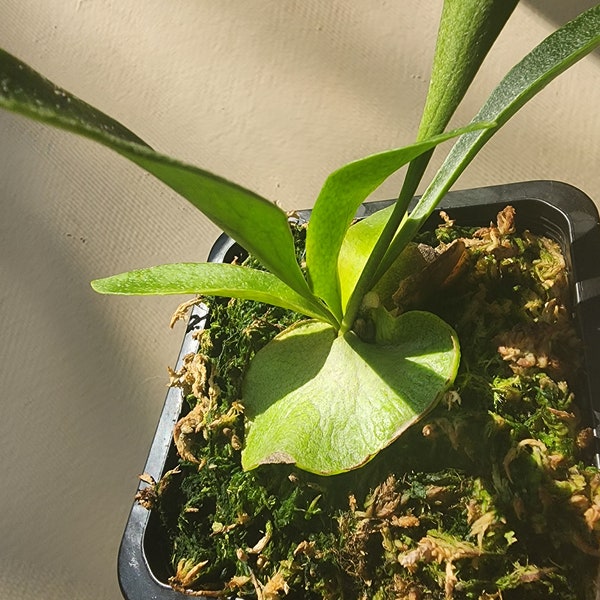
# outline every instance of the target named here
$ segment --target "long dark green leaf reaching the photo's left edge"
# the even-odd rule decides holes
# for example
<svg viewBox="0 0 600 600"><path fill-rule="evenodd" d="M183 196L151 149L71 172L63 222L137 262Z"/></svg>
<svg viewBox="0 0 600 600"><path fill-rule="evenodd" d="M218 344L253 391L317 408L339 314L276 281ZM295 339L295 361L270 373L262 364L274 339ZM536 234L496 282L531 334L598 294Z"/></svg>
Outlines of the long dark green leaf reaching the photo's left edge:
<svg viewBox="0 0 600 600"><path fill-rule="evenodd" d="M286 214L257 194L150 149L107 115L0 50L0 107L91 138L166 183L282 281L310 296Z"/></svg>

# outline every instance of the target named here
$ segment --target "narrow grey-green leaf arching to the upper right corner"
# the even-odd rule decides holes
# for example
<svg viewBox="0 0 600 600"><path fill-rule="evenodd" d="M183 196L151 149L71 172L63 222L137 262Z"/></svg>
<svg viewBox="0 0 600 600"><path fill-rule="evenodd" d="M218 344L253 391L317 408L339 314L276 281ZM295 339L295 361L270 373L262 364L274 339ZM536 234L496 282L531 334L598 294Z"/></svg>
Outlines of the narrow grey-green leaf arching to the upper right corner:
<svg viewBox="0 0 600 600"><path fill-rule="evenodd" d="M385 273L492 135L554 78L599 46L600 4L557 29L508 72L474 119L494 120L498 127L465 134L456 142L398 232L376 278Z"/></svg>

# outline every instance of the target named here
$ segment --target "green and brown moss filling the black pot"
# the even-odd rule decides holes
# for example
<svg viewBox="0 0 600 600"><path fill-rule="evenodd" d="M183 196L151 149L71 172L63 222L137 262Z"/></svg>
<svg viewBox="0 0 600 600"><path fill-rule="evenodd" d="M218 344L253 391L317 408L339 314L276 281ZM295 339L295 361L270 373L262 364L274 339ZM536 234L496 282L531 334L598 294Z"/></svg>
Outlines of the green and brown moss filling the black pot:
<svg viewBox="0 0 600 600"><path fill-rule="evenodd" d="M513 213L499 217L469 231L446 219L420 240L437 254L464 245L443 294L419 298L456 329L460 372L425 420L350 473L241 469L246 365L297 317L211 301L199 354L173 374L190 408L181 464L152 496L173 587L265 600L591 595L600 474L571 387L564 260L550 240L516 234ZM410 308L402 293L393 302Z"/></svg>

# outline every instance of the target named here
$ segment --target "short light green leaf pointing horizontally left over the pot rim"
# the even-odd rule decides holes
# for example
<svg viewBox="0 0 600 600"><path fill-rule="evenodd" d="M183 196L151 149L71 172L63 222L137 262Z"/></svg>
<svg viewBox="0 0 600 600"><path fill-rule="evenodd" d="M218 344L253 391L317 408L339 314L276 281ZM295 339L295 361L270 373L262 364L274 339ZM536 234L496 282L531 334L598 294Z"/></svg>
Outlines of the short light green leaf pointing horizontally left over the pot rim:
<svg viewBox="0 0 600 600"><path fill-rule="evenodd" d="M335 323L316 300L296 293L280 279L257 269L222 263L178 263L138 269L92 281L101 294L202 294L265 302Z"/></svg>

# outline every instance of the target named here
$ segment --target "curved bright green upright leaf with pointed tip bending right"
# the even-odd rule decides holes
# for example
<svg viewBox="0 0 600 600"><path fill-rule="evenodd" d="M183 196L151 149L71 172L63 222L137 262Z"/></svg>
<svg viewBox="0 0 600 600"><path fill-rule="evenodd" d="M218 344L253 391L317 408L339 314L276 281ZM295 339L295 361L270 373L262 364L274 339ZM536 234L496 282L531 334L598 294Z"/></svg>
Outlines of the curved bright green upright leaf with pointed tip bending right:
<svg viewBox="0 0 600 600"><path fill-rule="evenodd" d="M417 144L367 156L334 171L325 181L306 233L306 268L313 293L341 319L337 260L344 235L361 202L392 173L434 146L494 123L474 123Z"/></svg>

